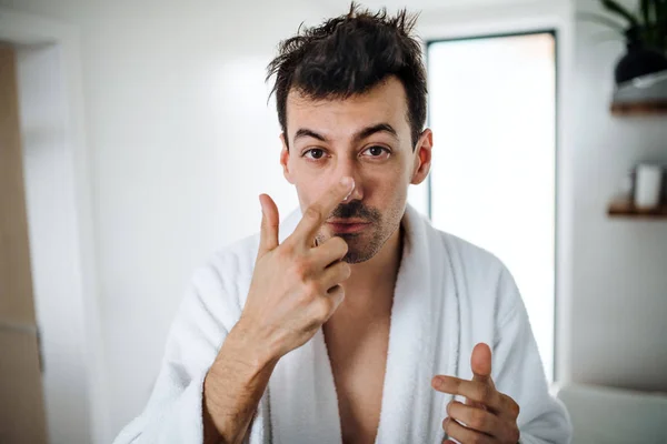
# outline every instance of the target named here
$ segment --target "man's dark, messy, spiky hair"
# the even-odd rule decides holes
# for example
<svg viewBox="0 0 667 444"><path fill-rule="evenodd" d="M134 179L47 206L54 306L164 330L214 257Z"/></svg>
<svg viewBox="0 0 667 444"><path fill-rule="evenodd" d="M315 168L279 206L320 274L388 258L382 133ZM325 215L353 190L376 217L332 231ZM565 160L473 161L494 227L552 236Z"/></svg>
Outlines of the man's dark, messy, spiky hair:
<svg viewBox="0 0 667 444"><path fill-rule="evenodd" d="M280 42L267 81L276 75L271 94L286 137L292 88L315 100L347 99L396 75L406 90L414 150L426 123L427 94L421 46L412 36L417 17L405 9L394 17L386 8L371 13L352 2L347 14L316 28L299 27L295 37Z"/></svg>

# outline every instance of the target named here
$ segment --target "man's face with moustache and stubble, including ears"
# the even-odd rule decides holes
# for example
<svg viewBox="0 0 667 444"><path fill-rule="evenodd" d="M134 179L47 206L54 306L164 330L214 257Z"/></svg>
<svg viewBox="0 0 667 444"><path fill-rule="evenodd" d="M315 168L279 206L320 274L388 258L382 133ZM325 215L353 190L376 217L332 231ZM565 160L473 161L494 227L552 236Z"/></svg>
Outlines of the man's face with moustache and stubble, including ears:
<svg viewBox="0 0 667 444"><path fill-rule="evenodd" d="M428 174L430 131L412 150L407 115L405 89L394 77L345 100L312 100L295 90L288 94L280 160L301 210L341 178L355 180L352 194L316 236L319 244L335 235L345 239L349 263L368 261L381 250L400 225L408 185Z"/></svg>

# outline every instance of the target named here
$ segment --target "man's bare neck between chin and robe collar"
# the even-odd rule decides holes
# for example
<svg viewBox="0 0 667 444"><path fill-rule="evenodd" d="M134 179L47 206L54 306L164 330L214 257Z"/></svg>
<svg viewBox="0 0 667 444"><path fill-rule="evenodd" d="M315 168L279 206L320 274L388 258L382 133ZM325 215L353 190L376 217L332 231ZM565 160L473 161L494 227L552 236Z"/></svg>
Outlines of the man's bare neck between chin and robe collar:
<svg viewBox="0 0 667 444"><path fill-rule="evenodd" d="M378 254L366 262L352 264L352 273L344 283L346 299L339 315L387 314L394 301L394 287L402 254L402 224L385 242Z"/></svg>

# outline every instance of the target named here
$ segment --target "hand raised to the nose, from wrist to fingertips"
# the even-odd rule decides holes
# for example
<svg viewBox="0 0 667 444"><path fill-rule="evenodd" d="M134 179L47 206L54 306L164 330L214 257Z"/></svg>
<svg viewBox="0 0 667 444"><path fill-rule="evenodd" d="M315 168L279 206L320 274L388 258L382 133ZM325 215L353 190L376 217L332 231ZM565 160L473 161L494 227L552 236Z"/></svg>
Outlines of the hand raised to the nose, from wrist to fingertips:
<svg viewBox="0 0 667 444"><path fill-rule="evenodd" d="M347 243L331 238L313 245L319 229L352 186L351 178L342 178L326 191L282 244L278 244L278 209L271 198L260 196L260 245L239 324L247 339L273 359L306 343L342 302L341 283L350 276L349 264L341 262Z"/></svg>

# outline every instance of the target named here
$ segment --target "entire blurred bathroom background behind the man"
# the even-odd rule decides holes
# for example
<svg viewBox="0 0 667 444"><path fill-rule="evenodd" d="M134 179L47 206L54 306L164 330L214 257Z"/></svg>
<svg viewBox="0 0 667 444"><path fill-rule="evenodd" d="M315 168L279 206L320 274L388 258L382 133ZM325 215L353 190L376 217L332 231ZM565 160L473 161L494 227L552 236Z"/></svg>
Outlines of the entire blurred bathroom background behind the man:
<svg viewBox="0 0 667 444"><path fill-rule="evenodd" d="M667 442L664 3L408 6L435 132L410 203L507 263L580 443ZM140 413L193 270L258 231L258 194L297 208L277 43L348 8L0 0L0 443Z"/></svg>

